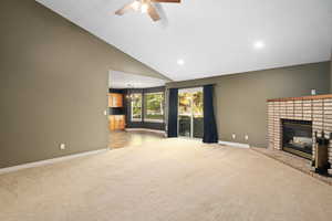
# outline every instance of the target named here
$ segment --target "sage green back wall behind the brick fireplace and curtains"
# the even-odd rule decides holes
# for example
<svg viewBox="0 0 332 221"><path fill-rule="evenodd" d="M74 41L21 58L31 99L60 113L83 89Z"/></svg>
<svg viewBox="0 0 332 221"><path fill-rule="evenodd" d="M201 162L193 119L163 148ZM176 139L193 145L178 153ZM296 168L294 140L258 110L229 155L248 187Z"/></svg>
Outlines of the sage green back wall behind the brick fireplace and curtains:
<svg viewBox="0 0 332 221"><path fill-rule="evenodd" d="M167 87L216 84L215 108L219 139L267 147L267 99L319 94L330 90L330 62L305 64L250 73L222 75L187 82L172 82ZM231 139L231 134L237 138ZM249 135L249 141L245 140Z"/></svg>

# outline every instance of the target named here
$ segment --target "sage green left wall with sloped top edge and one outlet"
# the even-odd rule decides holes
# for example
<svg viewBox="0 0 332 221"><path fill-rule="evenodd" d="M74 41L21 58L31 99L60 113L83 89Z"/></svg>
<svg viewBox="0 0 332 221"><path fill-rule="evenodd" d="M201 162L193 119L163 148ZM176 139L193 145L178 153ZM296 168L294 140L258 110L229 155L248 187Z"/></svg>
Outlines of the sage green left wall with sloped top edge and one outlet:
<svg viewBox="0 0 332 221"><path fill-rule="evenodd" d="M166 78L34 0L0 21L0 168L106 148L110 70Z"/></svg>

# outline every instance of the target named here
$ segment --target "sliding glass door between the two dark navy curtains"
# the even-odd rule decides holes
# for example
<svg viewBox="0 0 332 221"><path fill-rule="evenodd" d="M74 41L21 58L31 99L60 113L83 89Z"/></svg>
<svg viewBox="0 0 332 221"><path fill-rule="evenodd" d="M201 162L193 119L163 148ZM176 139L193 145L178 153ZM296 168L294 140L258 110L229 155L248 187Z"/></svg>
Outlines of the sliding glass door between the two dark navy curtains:
<svg viewBox="0 0 332 221"><path fill-rule="evenodd" d="M204 131L203 87L178 91L178 135L203 138Z"/></svg>

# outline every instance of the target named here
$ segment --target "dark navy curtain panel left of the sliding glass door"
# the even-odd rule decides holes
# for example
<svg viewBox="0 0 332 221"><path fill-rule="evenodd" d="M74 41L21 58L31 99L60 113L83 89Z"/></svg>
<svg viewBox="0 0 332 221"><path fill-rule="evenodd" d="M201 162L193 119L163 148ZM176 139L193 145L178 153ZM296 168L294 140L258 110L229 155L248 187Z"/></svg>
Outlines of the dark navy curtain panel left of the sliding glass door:
<svg viewBox="0 0 332 221"><path fill-rule="evenodd" d="M177 108L178 108L178 88L169 90L168 101L168 137L177 137Z"/></svg>

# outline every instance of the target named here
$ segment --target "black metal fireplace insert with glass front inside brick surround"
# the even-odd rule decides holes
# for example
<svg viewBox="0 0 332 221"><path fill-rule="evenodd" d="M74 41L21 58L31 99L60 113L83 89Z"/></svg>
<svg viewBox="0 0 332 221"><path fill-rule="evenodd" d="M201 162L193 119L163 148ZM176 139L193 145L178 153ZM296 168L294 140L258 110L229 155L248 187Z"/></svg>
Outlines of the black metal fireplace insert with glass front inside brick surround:
<svg viewBox="0 0 332 221"><path fill-rule="evenodd" d="M282 149L300 157L312 159L312 122L282 120Z"/></svg>

